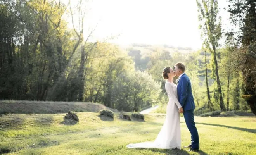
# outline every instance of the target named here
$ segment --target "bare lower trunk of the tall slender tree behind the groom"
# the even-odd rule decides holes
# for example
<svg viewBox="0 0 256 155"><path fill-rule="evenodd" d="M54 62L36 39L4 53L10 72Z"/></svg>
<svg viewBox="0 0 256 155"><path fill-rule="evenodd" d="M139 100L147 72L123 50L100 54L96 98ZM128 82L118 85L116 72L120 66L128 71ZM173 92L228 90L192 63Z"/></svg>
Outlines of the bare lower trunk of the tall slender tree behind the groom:
<svg viewBox="0 0 256 155"><path fill-rule="evenodd" d="M218 93L220 95L220 110L224 110L225 111L225 105L224 105L224 102L223 102L223 97L222 97L222 91L221 91L221 85L220 85L220 76L219 76L219 71L218 71L218 61L217 61L217 54L216 54L216 48L215 46L213 45L213 55L214 55L214 64L215 64L215 68L216 68L216 71L215 71L215 74L216 74L216 81L217 81L217 85L218 85Z"/></svg>

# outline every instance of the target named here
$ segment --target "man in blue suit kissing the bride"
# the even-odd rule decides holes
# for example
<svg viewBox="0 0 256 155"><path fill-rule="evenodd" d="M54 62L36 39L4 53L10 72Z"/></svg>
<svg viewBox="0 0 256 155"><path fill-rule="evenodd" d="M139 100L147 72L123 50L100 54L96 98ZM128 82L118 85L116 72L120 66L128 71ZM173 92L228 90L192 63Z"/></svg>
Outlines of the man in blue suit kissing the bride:
<svg viewBox="0 0 256 155"><path fill-rule="evenodd" d="M194 121L195 102L189 77L185 74L185 68L185 65L179 62L175 64L174 69L176 76L179 77L177 86L178 100L184 110L180 112L183 112L187 128L191 134L191 144L185 146L185 148L189 148L189 151L198 151L199 136Z"/></svg>

